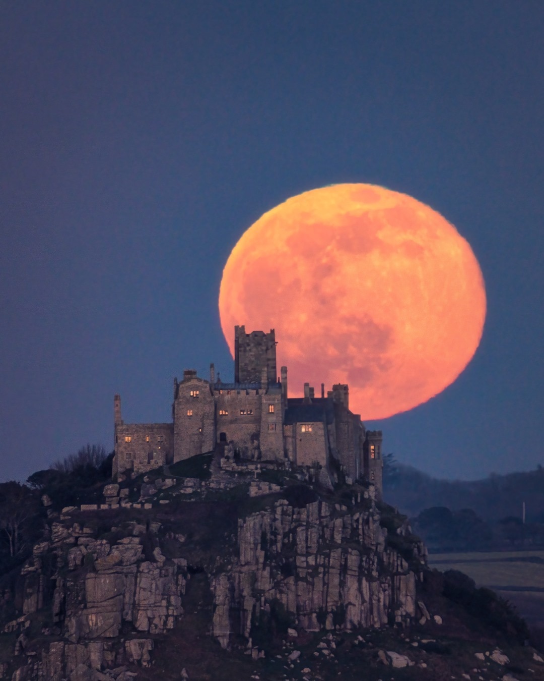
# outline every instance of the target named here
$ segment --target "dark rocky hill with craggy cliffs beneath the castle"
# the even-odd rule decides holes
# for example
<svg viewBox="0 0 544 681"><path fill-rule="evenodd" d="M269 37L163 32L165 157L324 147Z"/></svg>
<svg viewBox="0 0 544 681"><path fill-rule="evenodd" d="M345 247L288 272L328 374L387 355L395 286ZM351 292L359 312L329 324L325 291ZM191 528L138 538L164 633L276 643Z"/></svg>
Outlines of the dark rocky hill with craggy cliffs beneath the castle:
<svg viewBox="0 0 544 681"><path fill-rule="evenodd" d="M200 456L99 504L44 496L1 577L0 678L544 679L524 622L431 571L373 486L311 477Z"/></svg>

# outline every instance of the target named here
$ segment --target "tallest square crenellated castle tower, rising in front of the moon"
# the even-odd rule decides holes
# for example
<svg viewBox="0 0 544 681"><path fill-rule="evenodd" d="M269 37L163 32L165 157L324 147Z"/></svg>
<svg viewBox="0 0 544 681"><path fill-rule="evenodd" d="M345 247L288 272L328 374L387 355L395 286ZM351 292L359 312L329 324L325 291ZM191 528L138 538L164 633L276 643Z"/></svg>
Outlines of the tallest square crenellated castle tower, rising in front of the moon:
<svg viewBox="0 0 544 681"><path fill-rule="evenodd" d="M245 326L234 328L234 380L235 383L260 383L262 369L267 370L269 383L277 382L276 338L270 333L252 331L245 333Z"/></svg>

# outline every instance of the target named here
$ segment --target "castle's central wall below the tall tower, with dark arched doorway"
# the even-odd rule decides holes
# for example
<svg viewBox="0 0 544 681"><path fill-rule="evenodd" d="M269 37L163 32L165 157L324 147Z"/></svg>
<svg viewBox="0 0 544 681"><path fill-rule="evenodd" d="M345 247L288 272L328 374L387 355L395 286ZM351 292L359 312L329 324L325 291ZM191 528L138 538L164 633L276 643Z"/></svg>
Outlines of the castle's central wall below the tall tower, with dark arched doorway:
<svg viewBox="0 0 544 681"><path fill-rule="evenodd" d="M222 390L216 393L217 440L224 433L242 458L252 458L260 435L262 395L257 390ZM222 413L226 412L226 413Z"/></svg>

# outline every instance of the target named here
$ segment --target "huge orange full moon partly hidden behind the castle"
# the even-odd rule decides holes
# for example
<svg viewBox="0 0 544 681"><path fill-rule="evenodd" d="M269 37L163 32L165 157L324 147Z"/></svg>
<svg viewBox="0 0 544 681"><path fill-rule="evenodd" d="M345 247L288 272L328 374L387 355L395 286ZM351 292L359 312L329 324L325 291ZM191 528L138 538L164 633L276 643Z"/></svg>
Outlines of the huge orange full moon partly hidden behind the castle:
<svg viewBox="0 0 544 681"><path fill-rule="evenodd" d="M350 386L350 409L383 419L453 383L471 361L486 291L469 243L438 212L375 185L288 199L241 236L223 271L221 326L275 329L289 394Z"/></svg>

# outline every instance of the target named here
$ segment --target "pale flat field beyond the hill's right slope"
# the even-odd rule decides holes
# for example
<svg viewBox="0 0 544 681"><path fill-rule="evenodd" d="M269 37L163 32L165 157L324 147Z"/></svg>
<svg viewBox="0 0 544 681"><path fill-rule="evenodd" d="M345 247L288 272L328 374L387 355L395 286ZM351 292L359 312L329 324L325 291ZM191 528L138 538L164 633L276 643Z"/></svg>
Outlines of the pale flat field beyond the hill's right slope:
<svg viewBox="0 0 544 681"><path fill-rule="evenodd" d="M513 603L529 624L544 626L544 551L431 554L429 565L464 572Z"/></svg>

